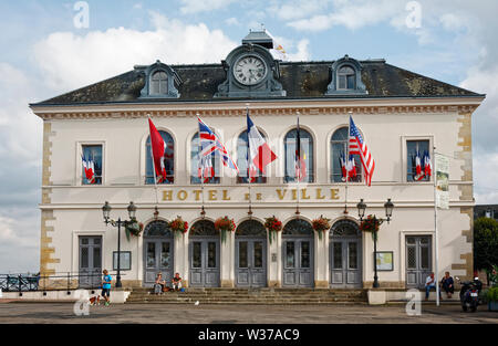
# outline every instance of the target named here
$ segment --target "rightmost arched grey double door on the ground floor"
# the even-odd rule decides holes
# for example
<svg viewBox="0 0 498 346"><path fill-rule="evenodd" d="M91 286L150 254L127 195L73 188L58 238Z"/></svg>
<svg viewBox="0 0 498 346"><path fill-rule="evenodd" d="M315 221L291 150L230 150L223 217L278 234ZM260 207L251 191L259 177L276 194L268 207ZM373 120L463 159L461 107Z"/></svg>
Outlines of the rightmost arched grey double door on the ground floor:
<svg viewBox="0 0 498 346"><path fill-rule="evenodd" d="M330 286L362 287L362 234L356 222L340 220L330 230Z"/></svg>

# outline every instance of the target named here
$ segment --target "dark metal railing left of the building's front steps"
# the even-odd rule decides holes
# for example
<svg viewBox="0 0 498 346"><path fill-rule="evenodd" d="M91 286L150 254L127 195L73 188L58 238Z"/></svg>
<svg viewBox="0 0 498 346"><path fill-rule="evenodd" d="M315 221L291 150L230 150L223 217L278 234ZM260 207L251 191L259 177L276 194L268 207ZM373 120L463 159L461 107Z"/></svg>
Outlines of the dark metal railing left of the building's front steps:
<svg viewBox="0 0 498 346"><path fill-rule="evenodd" d="M115 283L115 273L113 276ZM123 275L123 274L122 274ZM89 273L65 272L53 275L29 275L29 274L0 274L0 289L2 292L48 292L48 291L71 291L85 289L102 289L102 272L93 271Z"/></svg>

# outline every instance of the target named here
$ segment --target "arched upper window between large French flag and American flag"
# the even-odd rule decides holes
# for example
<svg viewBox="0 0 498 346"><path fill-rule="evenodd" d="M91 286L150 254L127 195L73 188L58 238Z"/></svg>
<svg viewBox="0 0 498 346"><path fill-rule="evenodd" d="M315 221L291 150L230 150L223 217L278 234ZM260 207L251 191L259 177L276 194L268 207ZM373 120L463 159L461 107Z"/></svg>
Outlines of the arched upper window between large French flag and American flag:
<svg viewBox="0 0 498 346"><path fill-rule="evenodd" d="M313 182L314 181L314 169L313 169L313 137L305 129L300 129L301 137L301 170L305 171L304 178L301 182ZM291 129L287 133L283 139L286 148L286 182L297 182L297 141L298 141L298 129Z"/></svg>

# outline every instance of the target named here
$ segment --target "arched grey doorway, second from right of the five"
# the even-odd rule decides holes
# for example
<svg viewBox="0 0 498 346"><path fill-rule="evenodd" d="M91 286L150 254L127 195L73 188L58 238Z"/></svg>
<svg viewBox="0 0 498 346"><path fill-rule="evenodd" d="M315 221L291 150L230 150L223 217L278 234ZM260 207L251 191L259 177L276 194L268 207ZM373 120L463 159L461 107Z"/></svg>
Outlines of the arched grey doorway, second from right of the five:
<svg viewBox="0 0 498 346"><path fill-rule="evenodd" d="M311 223L294 219L282 231L282 286L312 287L314 282L313 228Z"/></svg>

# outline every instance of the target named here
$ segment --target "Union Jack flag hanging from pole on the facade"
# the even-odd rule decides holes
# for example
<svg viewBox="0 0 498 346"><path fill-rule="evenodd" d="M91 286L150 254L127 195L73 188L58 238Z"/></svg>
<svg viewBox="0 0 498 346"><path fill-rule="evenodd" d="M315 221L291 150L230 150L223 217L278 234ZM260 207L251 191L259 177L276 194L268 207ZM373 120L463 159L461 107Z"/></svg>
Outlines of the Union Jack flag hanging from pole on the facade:
<svg viewBox="0 0 498 346"><path fill-rule="evenodd" d="M237 170L237 172L239 172L239 168L231 159L230 155L228 154L218 136L199 117L197 117L197 119L199 120L199 157L204 158L201 159L201 169L205 169L204 171L210 170L214 175L214 169L211 169L211 166L208 165L210 165L211 155L218 153L221 156L221 161L224 162L225 167L235 169Z"/></svg>

